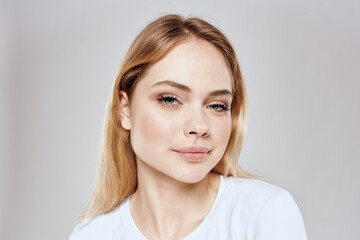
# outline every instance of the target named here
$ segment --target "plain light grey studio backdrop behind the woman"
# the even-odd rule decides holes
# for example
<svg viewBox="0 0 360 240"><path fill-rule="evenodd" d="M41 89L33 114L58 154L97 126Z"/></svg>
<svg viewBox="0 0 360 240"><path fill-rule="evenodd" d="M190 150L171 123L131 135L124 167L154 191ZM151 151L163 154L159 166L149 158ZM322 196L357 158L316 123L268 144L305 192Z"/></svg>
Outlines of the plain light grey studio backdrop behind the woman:
<svg viewBox="0 0 360 240"><path fill-rule="evenodd" d="M0 2L0 239L67 239L95 182L106 102L137 33L203 17L247 83L240 164L290 191L309 239L359 236L359 1Z"/></svg>

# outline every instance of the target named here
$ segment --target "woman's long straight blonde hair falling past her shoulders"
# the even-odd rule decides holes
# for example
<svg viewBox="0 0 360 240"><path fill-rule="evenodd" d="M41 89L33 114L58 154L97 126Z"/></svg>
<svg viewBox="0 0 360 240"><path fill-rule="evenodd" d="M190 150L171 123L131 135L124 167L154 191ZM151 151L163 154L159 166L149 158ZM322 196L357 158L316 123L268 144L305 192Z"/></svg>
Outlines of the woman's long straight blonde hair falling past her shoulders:
<svg viewBox="0 0 360 240"><path fill-rule="evenodd" d="M223 157L212 171L224 176L253 177L237 163L246 130L247 95L233 47L217 28L204 20L166 15L150 23L136 37L120 66L108 103L96 185L83 219L113 210L137 188L136 156L131 147L130 132L120 124L119 90L125 91L131 99L144 72L171 48L188 38L213 44L224 56L232 75L230 140Z"/></svg>

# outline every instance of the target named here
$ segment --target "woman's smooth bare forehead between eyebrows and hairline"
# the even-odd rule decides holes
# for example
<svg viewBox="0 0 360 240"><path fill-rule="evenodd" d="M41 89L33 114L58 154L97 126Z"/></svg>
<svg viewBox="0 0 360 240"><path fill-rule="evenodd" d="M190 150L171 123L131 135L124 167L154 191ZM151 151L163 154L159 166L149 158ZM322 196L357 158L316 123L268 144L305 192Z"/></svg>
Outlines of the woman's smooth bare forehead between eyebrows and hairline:
<svg viewBox="0 0 360 240"><path fill-rule="evenodd" d="M231 90L229 68L221 52L204 40L186 40L151 66L138 83L150 87L171 80L194 90Z"/></svg>

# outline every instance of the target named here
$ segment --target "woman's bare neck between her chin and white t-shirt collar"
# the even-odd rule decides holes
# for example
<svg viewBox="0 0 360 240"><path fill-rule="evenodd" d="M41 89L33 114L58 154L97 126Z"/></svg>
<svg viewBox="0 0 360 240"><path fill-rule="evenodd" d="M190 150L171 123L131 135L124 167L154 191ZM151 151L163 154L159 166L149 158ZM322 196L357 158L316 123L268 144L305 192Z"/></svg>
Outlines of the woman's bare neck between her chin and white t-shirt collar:
<svg viewBox="0 0 360 240"><path fill-rule="evenodd" d="M138 169L143 167L138 165ZM183 183L162 173L138 170L138 188L130 199L131 214L146 237L179 239L204 220L218 188L219 176L214 173L197 183Z"/></svg>

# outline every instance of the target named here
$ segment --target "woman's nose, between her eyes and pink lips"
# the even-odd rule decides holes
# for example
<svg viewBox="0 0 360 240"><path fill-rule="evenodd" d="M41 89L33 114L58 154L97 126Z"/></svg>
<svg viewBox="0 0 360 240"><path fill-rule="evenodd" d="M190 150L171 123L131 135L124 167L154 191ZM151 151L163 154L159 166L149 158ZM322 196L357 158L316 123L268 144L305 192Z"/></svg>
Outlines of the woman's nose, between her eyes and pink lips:
<svg viewBox="0 0 360 240"><path fill-rule="evenodd" d="M208 137L210 124L206 113L203 110L195 110L186 113L188 116L184 124L184 134L187 137Z"/></svg>

